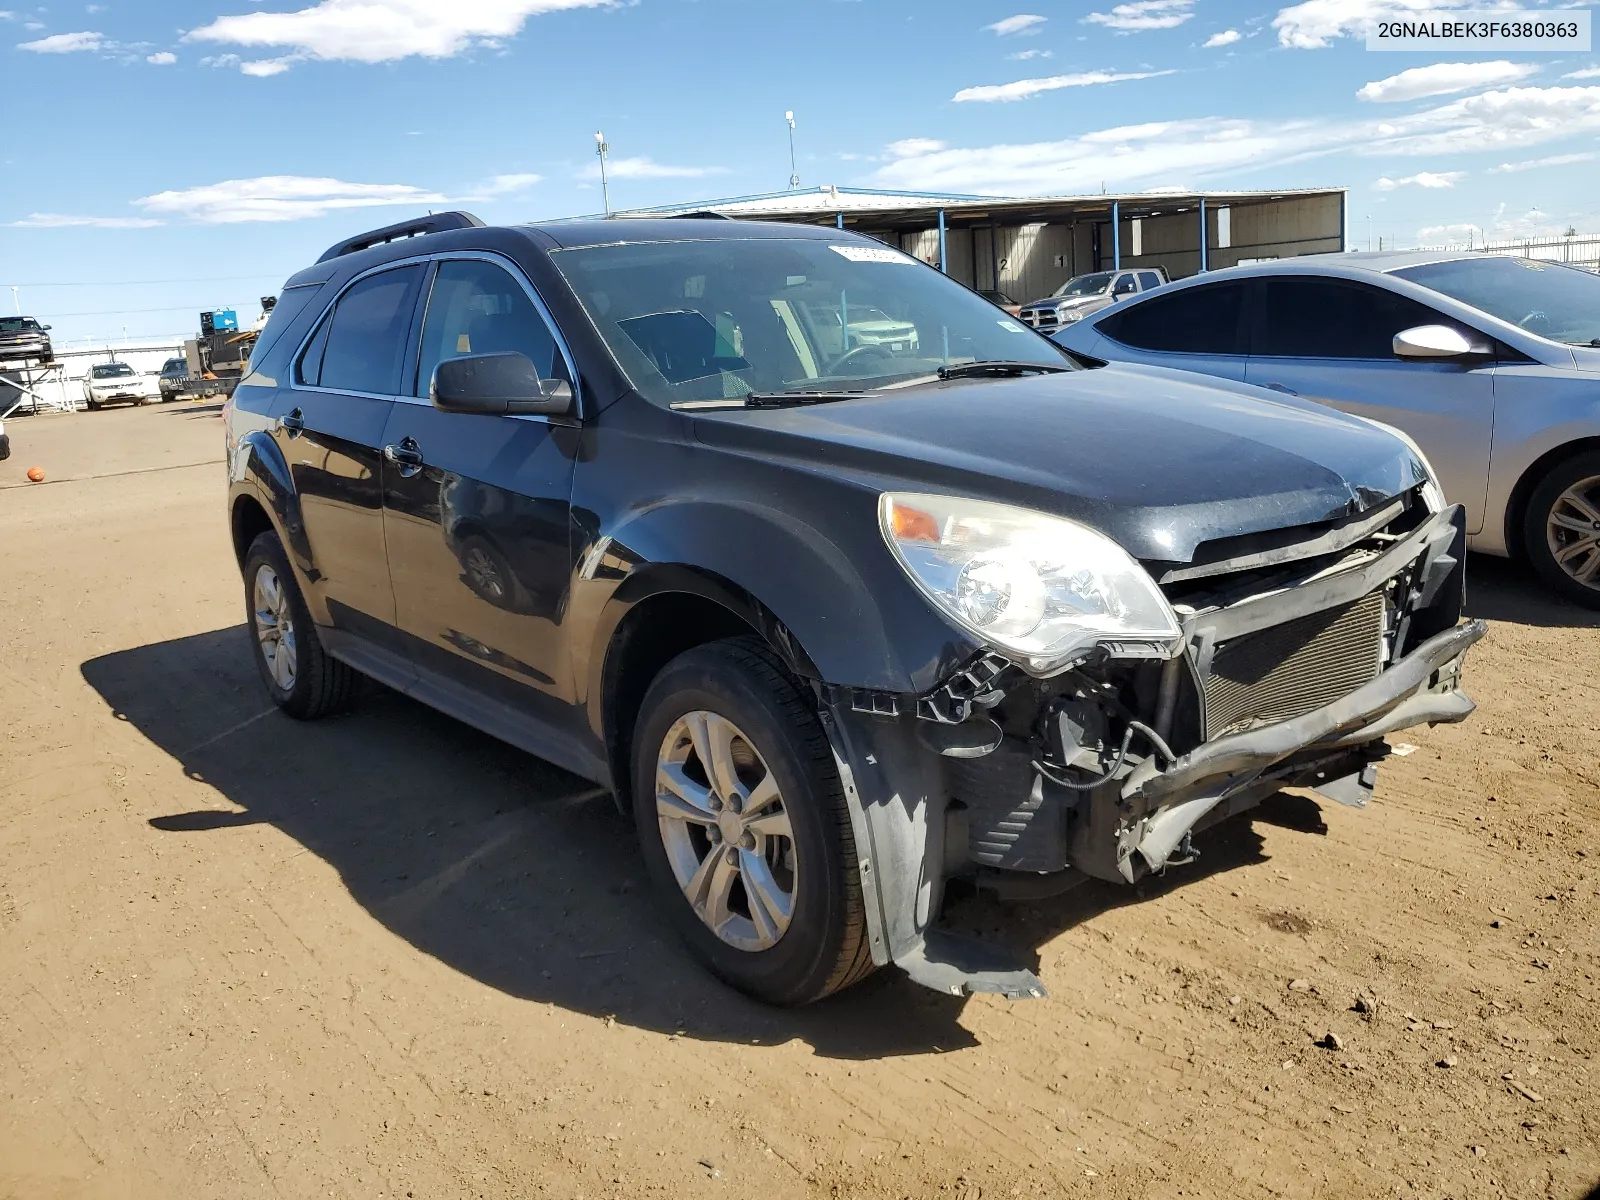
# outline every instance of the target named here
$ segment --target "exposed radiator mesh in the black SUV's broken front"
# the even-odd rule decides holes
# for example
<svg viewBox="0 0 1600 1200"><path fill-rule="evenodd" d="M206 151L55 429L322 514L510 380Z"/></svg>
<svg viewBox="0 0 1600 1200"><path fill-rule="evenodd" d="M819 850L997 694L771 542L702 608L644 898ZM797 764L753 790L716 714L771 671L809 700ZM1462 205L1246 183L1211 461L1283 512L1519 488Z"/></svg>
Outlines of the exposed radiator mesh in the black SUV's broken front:
<svg viewBox="0 0 1600 1200"><path fill-rule="evenodd" d="M1205 677L1206 739L1290 720L1376 678L1384 594L1224 642Z"/></svg>

